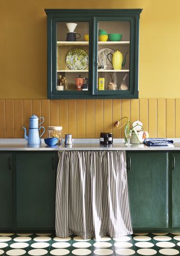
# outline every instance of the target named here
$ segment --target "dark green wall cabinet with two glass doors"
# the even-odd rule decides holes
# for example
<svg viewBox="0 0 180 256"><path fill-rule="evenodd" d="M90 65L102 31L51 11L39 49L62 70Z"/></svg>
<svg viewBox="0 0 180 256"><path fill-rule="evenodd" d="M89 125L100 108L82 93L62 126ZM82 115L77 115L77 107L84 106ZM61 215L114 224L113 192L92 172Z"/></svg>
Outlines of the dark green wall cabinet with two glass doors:
<svg viewBox="0 0 180 256"><path fill-rule="evenodd" d="M45 11L49 99L138 98L142 9Z"/></svg>

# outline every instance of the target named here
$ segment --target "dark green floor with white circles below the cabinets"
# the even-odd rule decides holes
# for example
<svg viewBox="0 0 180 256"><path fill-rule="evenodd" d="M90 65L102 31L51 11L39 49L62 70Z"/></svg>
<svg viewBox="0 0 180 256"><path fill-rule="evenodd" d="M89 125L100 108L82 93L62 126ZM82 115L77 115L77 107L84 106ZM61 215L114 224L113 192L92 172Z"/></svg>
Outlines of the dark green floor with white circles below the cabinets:
<svg viewBox="0 0 180 256"><path fill-rule="evenodd" d="M50 233L0 233L0 255L180 255L180 233L135 233L99 241Z"/></svg>

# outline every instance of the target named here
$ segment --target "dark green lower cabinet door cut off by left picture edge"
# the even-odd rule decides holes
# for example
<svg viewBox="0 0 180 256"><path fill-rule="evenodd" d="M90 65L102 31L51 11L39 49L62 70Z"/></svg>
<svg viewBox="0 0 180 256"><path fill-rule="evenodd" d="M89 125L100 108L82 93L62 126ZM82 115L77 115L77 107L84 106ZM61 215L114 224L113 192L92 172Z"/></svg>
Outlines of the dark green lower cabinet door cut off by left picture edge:
<svg viewBox="0 0 180 256"><path fill-rule="evenodd" d="M12 198L12 154L0 154L0 228L12 229L13 198Z"/></svg>

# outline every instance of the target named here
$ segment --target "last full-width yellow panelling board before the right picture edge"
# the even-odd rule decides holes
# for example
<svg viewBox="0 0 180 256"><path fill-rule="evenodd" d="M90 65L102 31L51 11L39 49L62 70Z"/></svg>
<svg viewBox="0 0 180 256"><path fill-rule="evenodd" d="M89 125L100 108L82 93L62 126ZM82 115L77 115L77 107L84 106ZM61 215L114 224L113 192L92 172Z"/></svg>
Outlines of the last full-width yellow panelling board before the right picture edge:
<svg viewBox="0 0 180 256"><path fill-rule="evenodd" d="M175 99L167 99L167 138L175 137Z"/></svg>

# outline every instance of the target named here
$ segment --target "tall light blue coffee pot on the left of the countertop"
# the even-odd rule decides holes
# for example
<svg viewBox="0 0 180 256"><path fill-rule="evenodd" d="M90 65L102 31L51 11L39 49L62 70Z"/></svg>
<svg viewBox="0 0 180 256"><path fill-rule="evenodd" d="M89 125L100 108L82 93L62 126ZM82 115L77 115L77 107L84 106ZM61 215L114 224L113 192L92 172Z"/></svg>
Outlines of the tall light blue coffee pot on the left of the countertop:
<svg viewBox="0 0 180 256"><path fill-rule="evenodd" d="M42 122L38 123L40 119L42 119ZM26 128L23 127L24 138L25 138L25 140L28 141L28 144L40 144L40 137L42 137L42 135L44 134L45 128L43 126L39 127L39 125L42 124L43 122L44 122L43 117L38 118L38 116L32 115L29 118L29 136L26 135ZM42 132L42 134L39 137L40 129L43 129L44 131Z"/></svg>

